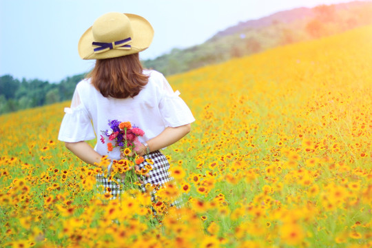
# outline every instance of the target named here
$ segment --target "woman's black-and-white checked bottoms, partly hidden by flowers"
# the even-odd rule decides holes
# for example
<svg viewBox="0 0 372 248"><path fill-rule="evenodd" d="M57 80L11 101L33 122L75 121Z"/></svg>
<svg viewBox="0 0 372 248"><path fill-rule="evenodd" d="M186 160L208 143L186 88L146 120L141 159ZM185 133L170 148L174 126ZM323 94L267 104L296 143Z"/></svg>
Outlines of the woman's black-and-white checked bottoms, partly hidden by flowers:
<svg viewBox="0 0 372 248"><path fill-rule="evenodd" d="M143 176L143 185L141 185L141 191L145 192L146 187L145 185L149 184L152 186L163 186L165 183L174 180L172 176L169 174L169 162L164 154L160 151L150 152L147 155L144 155L143 158L145 159L143 163L138 165L139 169L145 168L146 165L150 165L152 167L147 174L149 177ZM152 163L149 163L152 161ZM117 183L116 183L117 181ZM105 194L110 192L112 197L108 198L108 200L113 200L116 198L120 198L120 194L123 193L124 189L121 185L121 179L112 180L110 176L105 176L105 174L96 174L96 188L99 194ZM152 192L152 201L155 200L156 191ZM174 205L180 206L180 201L175 200Z"/></svg>

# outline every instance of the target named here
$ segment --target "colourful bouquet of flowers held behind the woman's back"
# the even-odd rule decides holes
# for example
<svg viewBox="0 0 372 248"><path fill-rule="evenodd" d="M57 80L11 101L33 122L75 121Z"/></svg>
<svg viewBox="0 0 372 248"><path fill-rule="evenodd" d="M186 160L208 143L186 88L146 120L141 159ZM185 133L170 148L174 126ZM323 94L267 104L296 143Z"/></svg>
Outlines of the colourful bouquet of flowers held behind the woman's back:
<svg viewBox="0 0 372 248"><path fill-rule="evenodd" d="M141 176L141 171L136 171L136 165L143 163L144 158L136 154L136 147L141 145L138 136L143 136L145 132L139 127L132 126L129 121L121 122L118 120L108 121L110 130L101 131L101 142L105 143L105 137L108 138L107 150L112 152L115 147L120 147L121 152L125 155L125 159L121 161L113 161L111 175L113 178L124 180L124 189L133 189L138 183L138 176Z"/></svg>

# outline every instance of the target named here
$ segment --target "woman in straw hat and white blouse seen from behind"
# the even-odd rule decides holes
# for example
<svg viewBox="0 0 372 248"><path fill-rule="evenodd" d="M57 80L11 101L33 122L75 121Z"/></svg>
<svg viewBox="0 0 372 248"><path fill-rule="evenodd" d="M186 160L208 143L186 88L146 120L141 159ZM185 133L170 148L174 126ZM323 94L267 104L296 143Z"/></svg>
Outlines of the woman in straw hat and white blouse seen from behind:
<svg viewBox="0 0 372 248"><path fill-rule="evenodd" d="M147 165L147 159L154 162L143 183L163 185L171 177L169 163L159 149L183 138L195 119L163 74L143 70L138 52L147 49L153 37L154 30L146 19L118 12L99 17L83 34L79 54L82 59L96 59L96 65L76 85L59 140L82 161L98 166L103 156L113 161L123 154L118 147L108 152L105 137L102 142L97 138L94 149L85 141L110 129L110 120L129 121L145 132L135 147L136 154L145 158L139 169ZM103 172L110 174L111 165L103 167ZM107 174L96 176L97 187L103 185L116 198L121 189Z"/></svg>

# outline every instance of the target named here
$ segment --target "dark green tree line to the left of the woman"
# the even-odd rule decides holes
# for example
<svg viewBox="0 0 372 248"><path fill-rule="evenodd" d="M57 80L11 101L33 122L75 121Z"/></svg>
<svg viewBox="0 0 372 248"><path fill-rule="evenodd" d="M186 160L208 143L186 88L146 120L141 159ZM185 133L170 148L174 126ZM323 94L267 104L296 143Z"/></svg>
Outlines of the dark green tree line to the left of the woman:
<svg viewBox="0 0 372 248"><path fill-rule="evenodd" d="M0 77L0 114L38 107L72 98L76 84L85 74L49 83L39 79L14 79L10 74Z"/></svg>

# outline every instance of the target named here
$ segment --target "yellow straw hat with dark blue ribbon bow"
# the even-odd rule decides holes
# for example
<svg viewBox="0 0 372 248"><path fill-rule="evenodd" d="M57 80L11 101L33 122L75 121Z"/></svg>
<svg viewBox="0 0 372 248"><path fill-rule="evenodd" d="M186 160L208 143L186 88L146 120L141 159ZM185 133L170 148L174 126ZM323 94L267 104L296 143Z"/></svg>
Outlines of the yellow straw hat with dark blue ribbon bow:
<svg viewBox="0 0 372 248"><path fill-rule="evenodd" d="M154 37L152 25L136 14L110 12L94 21L79 40L81 59L109 59L141 52Z"/></svg>

